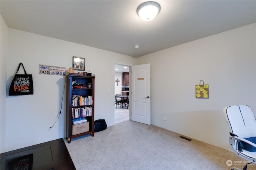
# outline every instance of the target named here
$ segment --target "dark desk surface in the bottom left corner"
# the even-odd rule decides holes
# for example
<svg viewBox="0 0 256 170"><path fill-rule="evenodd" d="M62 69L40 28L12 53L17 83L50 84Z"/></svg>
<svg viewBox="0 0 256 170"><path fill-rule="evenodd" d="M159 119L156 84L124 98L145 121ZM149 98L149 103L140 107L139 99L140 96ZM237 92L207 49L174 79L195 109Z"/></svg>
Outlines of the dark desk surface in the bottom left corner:
<svg viewBox="0 0 256 170"><path fill-rule="evenodd" d="M1 168L8 170L8 162L33 153L33 170L76 170L62 138L12 150L1 154Z"/></svg>

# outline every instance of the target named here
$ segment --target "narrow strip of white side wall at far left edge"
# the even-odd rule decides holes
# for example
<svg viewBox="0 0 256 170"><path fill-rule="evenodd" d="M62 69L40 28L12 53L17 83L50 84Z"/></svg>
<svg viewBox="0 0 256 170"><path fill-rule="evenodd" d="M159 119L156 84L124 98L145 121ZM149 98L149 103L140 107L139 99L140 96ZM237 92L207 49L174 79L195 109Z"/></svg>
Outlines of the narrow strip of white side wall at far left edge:
<svg viewBox="0 0 256 170"><path fill-rule="evenodd" d="M0 18L0 153L6 147L6 70L8 53L8 27Z"/></svg>

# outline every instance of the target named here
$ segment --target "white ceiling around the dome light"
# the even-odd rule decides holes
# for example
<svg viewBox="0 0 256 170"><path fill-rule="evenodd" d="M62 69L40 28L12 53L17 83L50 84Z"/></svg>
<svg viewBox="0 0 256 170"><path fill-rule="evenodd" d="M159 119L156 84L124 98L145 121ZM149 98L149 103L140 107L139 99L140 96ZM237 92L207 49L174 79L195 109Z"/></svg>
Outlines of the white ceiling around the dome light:
<svg viewBox="0 0 256 170"><path fill-rule="evenodd" d="M256 22L255 0L155 0L161 10L152 21L136 13L143 2L1 0L0 12L10 28L132 57Z"/></svg>

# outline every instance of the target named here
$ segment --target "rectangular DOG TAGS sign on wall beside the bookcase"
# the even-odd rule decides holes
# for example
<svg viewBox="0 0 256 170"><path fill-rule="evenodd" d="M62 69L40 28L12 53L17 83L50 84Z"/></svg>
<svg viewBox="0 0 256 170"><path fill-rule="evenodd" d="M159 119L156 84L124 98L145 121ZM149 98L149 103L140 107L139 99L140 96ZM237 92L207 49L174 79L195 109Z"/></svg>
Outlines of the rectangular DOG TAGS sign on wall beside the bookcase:
<svg viewBox="0 0 256 170"><path fill-rule="evenodd" d="M48 75L66 75L66 67L60 66L48 66L39 64L39 74L48 74Z"/></svg>

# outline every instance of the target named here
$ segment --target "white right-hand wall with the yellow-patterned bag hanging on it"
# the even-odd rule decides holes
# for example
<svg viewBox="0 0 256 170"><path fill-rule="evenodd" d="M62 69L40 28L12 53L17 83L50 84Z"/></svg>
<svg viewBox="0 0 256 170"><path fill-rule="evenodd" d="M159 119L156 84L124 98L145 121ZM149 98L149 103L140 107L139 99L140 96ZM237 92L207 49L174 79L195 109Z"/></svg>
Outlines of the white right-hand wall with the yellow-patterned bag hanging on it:
<svg viewBox="0 0 256 170"><path fill-rule="evenodd" d="M229 150L222 109L240 104L256 113L255 30L254 23L139 57L151 63L151 123ZM195 98L200 80L209 99Z"/></svg>

